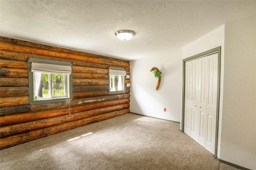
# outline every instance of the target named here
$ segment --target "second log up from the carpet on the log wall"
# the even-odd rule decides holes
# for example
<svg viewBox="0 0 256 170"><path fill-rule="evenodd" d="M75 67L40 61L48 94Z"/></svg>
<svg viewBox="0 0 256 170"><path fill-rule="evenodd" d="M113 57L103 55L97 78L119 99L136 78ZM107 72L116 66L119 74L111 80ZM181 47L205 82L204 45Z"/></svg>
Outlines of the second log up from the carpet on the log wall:
<svg viewBox="0 0 256 170"><path fill-rule="evenodd" d="M89 111L82 111L82 112L73 113L70 115L62 115L58 117L51 117L51 118L41 119L37 121L30 121L26 123L5 126L5 127L1 127L0 129L0 137L1 139L3 139L5 137L9 137L12 135L26 133L26 132L34 131L37 129L43 129L46 127L55 126L55 125L67 123L70 121L76 121L79 119L84 119L86 117L92 117L92 116L108 113L111 111L121 110L121 109L128 109L129 107L130 107L130 104L122 104L122 105L104 107L100 109L93 109Z"/></svg>

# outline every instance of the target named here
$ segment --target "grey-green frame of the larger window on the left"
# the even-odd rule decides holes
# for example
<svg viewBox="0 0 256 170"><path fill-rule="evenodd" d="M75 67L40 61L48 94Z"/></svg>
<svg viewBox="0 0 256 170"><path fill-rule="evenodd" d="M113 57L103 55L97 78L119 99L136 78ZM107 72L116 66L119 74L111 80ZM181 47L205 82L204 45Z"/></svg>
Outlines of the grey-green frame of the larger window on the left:
<svg viewBox="0 0 256 170"><path fill-rule="evenodd" d="M56 65L64 65L64 66L71 66L72 63L64 62L64 61L52 61L52 60L46 60L46 59L35 59L30 58L28 59L28 96L29 96L29 104L35 105L35 104L47 104L47 103L55 103L55 102L66 102L73 100L73 80L72 80L72 72L70 75L67 75L67 82L66 82L66 88L67 88L67 97L60 97L60 98L47 98L43 100L36 100L34 101L34 85L33 85L33 79L34 79L34 73L31 71L31 64L32 63L43 63L43 64L56 64Z"/></svg>

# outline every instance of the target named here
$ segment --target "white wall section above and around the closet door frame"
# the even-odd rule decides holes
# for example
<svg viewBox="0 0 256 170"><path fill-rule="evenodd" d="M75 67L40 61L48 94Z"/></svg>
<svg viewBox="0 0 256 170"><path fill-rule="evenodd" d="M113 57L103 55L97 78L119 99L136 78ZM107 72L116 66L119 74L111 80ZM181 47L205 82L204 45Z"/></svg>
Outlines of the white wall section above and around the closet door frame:
<svg viewBox="0 0 256 170"><path fill-rule="evenodd" d="M214 49L216 47L221 47L220 52L220 87L223 87L223 75L224 75L224 33L225 26L222 25L212 32L200 37L199 39L193 41L192 43L182 47L182 60L188 57L197 55L204 51ZM182 75L181 75L182 76ZM181 94L182 95L182 94ZM220 136L222 129L222 98L223 98L223 88L220 88L220 110L219 110L219 136L218 136L218 149L217 157L220 157ZM182 125L181 125L182 126Z"/></svg>

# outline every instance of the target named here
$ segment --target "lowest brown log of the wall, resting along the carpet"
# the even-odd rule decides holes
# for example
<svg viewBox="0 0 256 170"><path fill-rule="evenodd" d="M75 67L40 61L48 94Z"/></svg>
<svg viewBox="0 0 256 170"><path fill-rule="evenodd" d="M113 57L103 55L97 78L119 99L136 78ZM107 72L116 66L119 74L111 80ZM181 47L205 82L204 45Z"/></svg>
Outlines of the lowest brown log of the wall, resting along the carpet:
<svg viewBox="0 0 256 170"><path fill-rule="evenodd" d="M84 126L84 125L89 125L92 123L96 123L99 121L103 121L106 119L110 119L112 117L124 115L126 113L129 113L130 109L124 109L124 110L119 110L119 111L112 111L110 113L105 113L102 115L96 115L93 117L88 117L85 119L80 119L78 121L72 121L68 123L63 123L61 125L56 125L53 127L46 127L44 129L38 129L35 131L27 132L27 133L22 133L19 135L14 135L10 137L6 137L0 140L0 149L6 149L8 147L13 147L22 143L26 143L29 141L33 141L36 139L40 139L43 137L47 137L56 133L60 133L63 131L67 131L70 129L74 129L76 127Z"/></svg>

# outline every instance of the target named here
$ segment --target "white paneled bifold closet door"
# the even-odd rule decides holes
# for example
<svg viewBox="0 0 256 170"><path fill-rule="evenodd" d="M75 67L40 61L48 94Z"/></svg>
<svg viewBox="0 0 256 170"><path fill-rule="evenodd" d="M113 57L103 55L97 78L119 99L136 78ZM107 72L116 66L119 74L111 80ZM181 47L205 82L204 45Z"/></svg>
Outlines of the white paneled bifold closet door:
<svg viewBox="0 0 256 170"><path fill-rule="evenodd" d="M218 53L186 62L184 133L214 154Z"/></svg>

